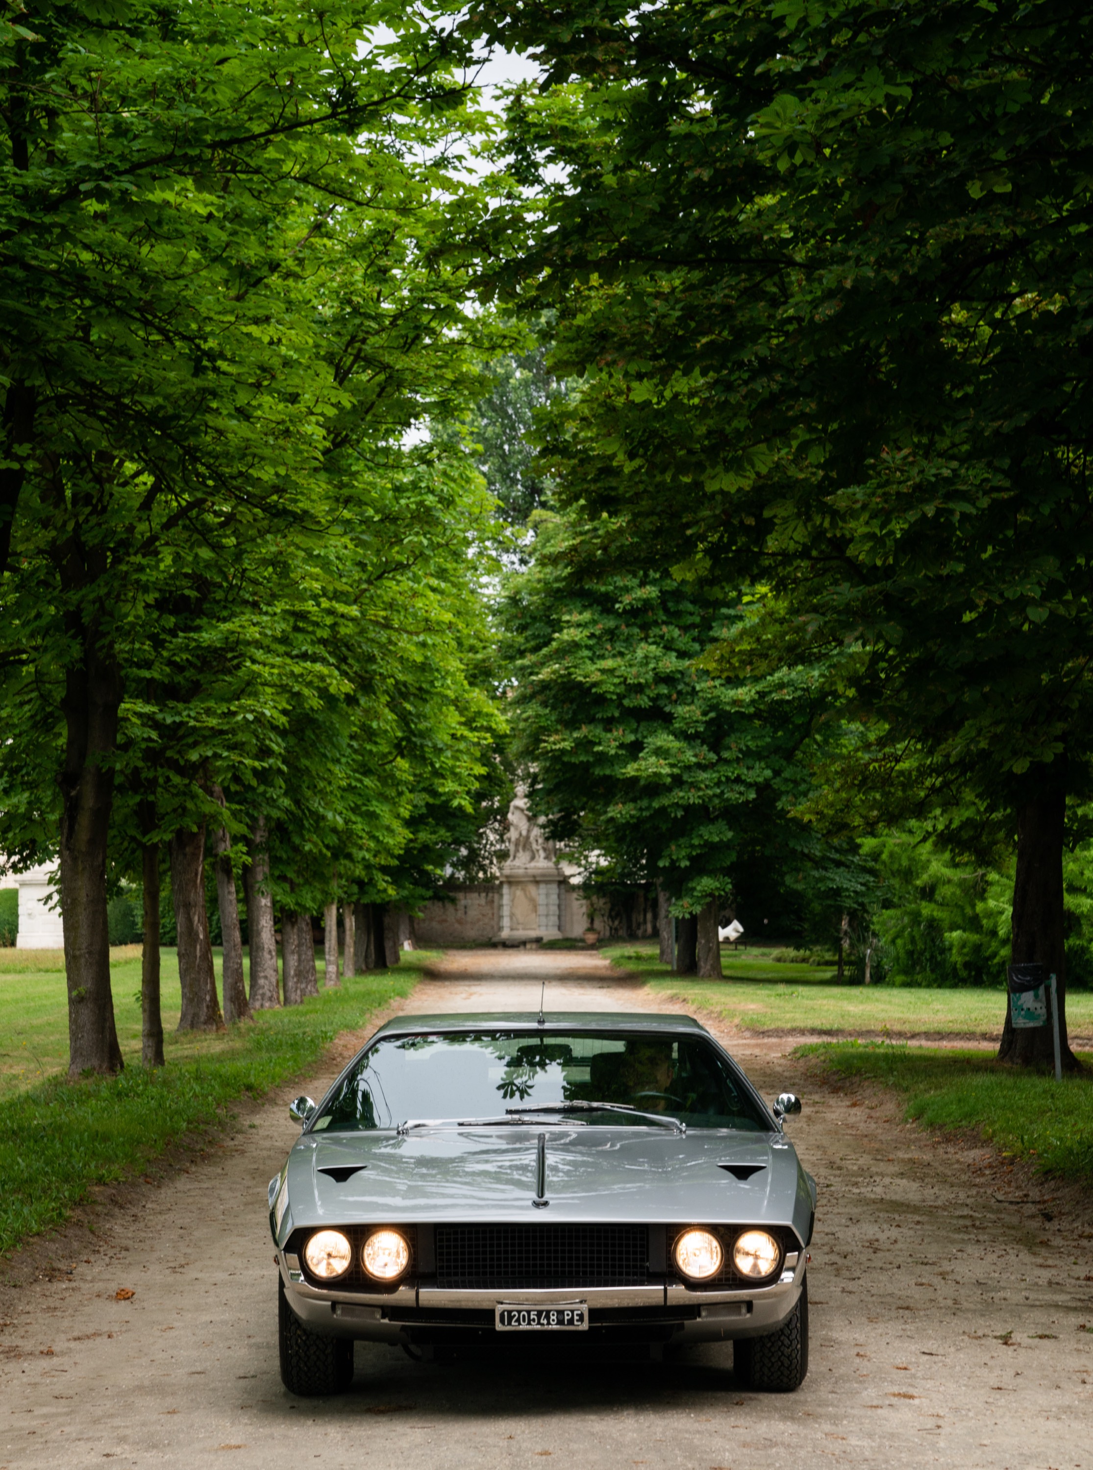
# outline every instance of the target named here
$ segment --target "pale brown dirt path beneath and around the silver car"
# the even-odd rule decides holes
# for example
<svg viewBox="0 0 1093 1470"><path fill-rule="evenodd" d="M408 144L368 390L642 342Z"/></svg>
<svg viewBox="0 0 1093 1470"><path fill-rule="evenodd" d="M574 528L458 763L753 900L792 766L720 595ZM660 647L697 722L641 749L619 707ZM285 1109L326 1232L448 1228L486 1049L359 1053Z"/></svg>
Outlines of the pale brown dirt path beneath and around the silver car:
<svg viewBox="0 0 1093 1470"><path fill-rule="evenodd" d="M597 956L524 951L453 954L406 1008L537 1010L543 979L547 1010L650 1008ZM812 1366L797 1394L740 1392L728 1347L590 1372L413 1364L359 1345L349 1395L291 1399L265 1217L266 1182L296 1136L285 1092L185 1172L113 1192L94 1235L60 1238L59 1272L0 1288L0 1470L546 1457L1093 1467L1089 1213L1017 1175L999 1185L996 1160L899 1125L886 1100L824 1088L787 1057L791 1038L722 1039L765 1094L805 1100L790 1129L821 1195ZM316 1076L307 1089L322 1086Z"/></svg>

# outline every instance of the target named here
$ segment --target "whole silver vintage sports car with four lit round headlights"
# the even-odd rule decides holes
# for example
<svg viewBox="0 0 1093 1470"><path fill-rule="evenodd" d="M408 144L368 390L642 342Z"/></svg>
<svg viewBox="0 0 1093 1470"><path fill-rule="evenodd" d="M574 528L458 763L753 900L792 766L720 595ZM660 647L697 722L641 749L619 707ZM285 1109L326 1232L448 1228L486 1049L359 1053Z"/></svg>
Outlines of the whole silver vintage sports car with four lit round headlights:
<svg viewBox="0 0 1093 1470"><path fill-rule="evenodd" d="M353 1341L412 1357L531 1341L734 1341L755 1389L808 1372L815 1180L783 1117L687 1016L402 1016L269 1182L281 1376L353 1377ZM505 1335L505 1336L502 1336Z"/></svg>

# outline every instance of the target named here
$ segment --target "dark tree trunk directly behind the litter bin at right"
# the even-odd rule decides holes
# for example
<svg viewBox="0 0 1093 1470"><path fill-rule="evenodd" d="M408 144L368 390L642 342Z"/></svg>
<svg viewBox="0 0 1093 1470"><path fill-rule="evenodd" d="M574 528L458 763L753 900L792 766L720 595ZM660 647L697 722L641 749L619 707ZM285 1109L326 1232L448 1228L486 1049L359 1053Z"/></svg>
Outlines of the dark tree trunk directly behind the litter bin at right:
<svg viewBox="0 0 1093 1470"><path fill-rule="evenodd" d="M1017 872L1014 875L1014 917L1011 961L1039 961L1046 975L1056 976L1059 995L1059 1045L1067 1072L1080 1072L1081 1063L1067 1039L1067 973L1064 956L1062 845L1067 819L1065 791L1040 792L1018 807ZM1014 1026L1006 994L1006 1023L1002 1029L999 1061L1022 1067L1053 1067L1050 998L1046 1026Z"/></svg>

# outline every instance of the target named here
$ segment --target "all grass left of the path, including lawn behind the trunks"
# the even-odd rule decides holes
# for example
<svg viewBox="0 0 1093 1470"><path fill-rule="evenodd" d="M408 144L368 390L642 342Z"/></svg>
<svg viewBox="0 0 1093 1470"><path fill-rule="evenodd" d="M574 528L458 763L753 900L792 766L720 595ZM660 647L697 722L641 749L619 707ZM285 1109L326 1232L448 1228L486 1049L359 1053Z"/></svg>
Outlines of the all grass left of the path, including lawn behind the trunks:
<svg viewBox="0 0 1093 1470"><path fill-rule="evenodd" d="M43 967L50 961L28 951L0 950L0 1254L60 1225L91 1185L146 1169L172 1144L222 1122L240 1097L260 1097L315 1066L340 1032L407 995L435 953L402 958L394 970L343 980L303 1005L262 1011L253 1023L178 1036L178 967L165 951L166 1066L146 1072L140 951L122 950L112 954L110 970L125 1072L69 1083L63 969Z"/></svg>

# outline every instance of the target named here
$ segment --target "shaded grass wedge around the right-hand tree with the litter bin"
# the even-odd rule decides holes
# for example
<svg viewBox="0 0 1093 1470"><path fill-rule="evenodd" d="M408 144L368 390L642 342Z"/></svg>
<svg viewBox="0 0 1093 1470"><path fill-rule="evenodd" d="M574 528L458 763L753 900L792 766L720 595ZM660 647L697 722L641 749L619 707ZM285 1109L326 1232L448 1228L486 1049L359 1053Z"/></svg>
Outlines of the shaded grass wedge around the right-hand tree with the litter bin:
<svg viewBox="0 0 1093 1470"><path fill-rule="evenodd" d="M1042 1173L1093 1182L1093 1073L1056 1082L980 1051L884 1042L815 1042L794 1055L831 1076L893 1088L905 1098L906 1117L922 1127L974 1129Z"/></svg>

